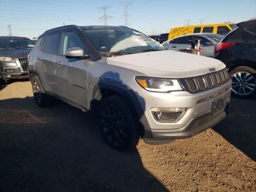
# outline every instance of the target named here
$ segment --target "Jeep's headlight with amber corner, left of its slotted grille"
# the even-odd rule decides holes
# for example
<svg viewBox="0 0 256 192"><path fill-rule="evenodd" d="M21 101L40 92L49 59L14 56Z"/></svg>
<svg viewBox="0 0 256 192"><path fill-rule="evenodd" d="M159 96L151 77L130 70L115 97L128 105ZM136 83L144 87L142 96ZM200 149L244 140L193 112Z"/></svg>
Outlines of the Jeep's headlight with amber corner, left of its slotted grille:
<svg viewBox="0 0 256 192"><path fill-rule="evenodd" d="M177 79L138 76L135 77L135 80L148 91L170 92L184 90L182 84Z"/></svg>

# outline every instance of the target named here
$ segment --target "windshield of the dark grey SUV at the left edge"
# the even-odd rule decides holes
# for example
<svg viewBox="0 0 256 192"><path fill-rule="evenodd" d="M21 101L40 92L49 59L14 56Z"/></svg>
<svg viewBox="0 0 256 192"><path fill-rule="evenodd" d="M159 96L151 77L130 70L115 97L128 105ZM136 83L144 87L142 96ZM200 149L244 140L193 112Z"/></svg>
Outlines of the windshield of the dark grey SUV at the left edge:
<svg viewBox="0 0 256 192"><path fill-rule="evenodd" d="M34 44L27 38L0 38L0 49L33 48Z"/></svg>

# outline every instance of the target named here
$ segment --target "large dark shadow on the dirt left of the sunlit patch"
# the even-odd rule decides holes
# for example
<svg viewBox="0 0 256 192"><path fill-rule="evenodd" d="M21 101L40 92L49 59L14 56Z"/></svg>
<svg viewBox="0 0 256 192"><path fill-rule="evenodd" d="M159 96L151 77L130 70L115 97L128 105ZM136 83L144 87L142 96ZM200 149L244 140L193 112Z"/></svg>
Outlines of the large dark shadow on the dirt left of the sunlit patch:
<svg viewBox="0 0 256 192"><path fill-rule="evenodd" d="M92 115L60 100L0 100L0 191L168 191L138 150L108 146Z"/></svg>

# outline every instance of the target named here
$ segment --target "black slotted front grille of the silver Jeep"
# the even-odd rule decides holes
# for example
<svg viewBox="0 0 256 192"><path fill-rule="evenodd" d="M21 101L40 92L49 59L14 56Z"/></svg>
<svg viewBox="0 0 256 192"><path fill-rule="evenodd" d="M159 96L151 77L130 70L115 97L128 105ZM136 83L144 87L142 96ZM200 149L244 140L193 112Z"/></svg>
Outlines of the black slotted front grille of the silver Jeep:
<svg viewBox="0 0 256 192"><path fill-rule="evenodd" d="M184 87L188 92L195 93L220 86L230 79L226 69L185 79ZM182 81L184 82L184 81Z"/></svg>

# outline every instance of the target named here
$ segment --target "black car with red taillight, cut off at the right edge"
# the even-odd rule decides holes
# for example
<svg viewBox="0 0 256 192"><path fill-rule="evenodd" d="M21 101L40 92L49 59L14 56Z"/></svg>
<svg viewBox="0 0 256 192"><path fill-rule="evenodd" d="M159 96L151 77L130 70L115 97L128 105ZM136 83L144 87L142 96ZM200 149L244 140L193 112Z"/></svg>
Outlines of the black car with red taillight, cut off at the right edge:
<svg viewBox="0 0 256 192"><path fill-rule="evenodd" d="M232 95L250 98L256 94L256 20L236 24L214 48L214 58L224 62L233 80Z"/></svg>

